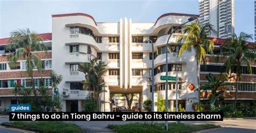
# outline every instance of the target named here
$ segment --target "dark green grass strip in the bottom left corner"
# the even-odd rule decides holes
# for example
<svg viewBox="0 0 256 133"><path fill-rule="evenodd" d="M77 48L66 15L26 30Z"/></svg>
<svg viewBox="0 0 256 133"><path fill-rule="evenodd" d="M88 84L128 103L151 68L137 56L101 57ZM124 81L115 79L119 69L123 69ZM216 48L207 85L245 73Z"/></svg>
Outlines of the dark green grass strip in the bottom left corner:
<svg viewBox="0 0 256 133"><path fill-rule="evenodd" d="M72 123L64 123L64 122L5 122L2 125L9 124L11 127L23 129L23 130L31 130L37 129L40 132L82 132L82 129Z"/></svg>

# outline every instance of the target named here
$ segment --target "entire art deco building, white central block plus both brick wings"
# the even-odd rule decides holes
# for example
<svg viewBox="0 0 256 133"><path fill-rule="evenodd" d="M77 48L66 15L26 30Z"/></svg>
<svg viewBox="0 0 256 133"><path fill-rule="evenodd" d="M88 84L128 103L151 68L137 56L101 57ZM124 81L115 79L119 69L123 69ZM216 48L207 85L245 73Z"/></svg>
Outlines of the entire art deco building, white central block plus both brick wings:
<svg viewBox="0 0 256 133"><path fill-rule="evenodd" d="M59 93L62 95L62 111L83 111L86 96L89 90L83 90L84 74L78 71L79 64L98 57L107 64L105 93L101 94L101 110L111 111L112 94L136 93L139 96L139 106L143 101L151 99L151 76L154 75L156 92L165 96L165 45L170 32L175 26L187 21L192 15L181 13L166 13L153 23L136 23L131 19L120 19L119 22L100 23L84 13L70 13L52 15L52 33L40 34L44 43L49 47L47 55L36 52L45 60L43 79L46 86L50 86L50 71L63 75L59 84ZM176 45L177 37L182 29L174 31L169 40L168 74L178 74L178 100L187 111L192 111L192 104L198 102L198 93L188 86L197 85L197 61L194 51L185 52L177 57L180 45ZM145 40L153 41L154 65L152 66L152 47ZM211 38L215 45L215 52L221 51L223 39ZM18 103L17 96L12 93L13 82L29 83L30 78L25 75L23 61L19 61L16 69L10 69L4 45L8 38L0 39L2 54L0 56L0 108L9 107L10 103ZM207 55L207 67L201 67L200 82L206 82L205 75L209 72L220 75L219 67L224 60L216 63ZM152 73L152 68L154 73ZM239 88L239 102L252 101L256 94L256 66L254 73L242 76ZM35 71L35 78L39 78ZM230 80L233 82L234 79ZM169 81L168 105L174 107L175 81ZM49 90L50 91L50 90ZM51 91L50 91L51 92ZM228 100L233 100L233 92L225 93ZM201 100L206 100L209 93L202 92Z"/></svg>

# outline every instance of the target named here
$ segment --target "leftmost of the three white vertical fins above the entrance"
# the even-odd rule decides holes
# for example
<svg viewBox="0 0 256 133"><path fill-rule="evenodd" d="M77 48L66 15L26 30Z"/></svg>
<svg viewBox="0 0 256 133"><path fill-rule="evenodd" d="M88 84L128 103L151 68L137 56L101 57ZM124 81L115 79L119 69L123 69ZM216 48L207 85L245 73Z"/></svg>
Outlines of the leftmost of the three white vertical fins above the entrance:
<svg viewBox="0 0 256 133"><path fill-rule="evenodd" d="M120 47L120 52L119 52L119 79L120 79L120 88L123 88L123 20L120 18L120 23L119 23L119 47Z"/></svg>

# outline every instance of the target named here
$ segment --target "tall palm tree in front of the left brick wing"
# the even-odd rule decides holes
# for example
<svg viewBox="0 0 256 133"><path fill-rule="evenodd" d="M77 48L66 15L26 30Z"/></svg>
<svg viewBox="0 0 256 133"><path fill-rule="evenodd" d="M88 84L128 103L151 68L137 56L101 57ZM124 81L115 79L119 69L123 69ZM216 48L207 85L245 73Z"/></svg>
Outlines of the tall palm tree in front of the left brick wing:
<svg viewBox="0 0 256 133"><path fill-rule="evenodd" d="M39 75L42 76L42 61L33 51L47 51L47 47L43 44L43 38L38 36L35 32L29 29L18 29L12 31L8 44L5 46L6 50L15 50L10 52L7 59L10 66L15 66L17 60L26 60L26 74L32 79L32 88L34 88L34 95L36 96L35 85L33 83L33 69L37 69Z"/></svg>

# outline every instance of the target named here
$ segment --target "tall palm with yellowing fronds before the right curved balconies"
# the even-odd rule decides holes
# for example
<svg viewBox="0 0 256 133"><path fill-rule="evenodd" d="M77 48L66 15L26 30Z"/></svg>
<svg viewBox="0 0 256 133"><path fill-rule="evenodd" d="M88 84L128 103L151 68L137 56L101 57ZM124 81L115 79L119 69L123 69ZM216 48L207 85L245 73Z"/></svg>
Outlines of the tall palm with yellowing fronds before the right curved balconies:
<svg viewBox="0 0 256 133"><path fill-rule="evenodd" d="M179 36L178 43L181 45L178 57L181 56L185 51L191 52L192 48L196 52L197 60L197 83L198 83L198 97L200 102L200 88L199 88L199 66L200 62L205 62L206 52L213 53L213 41L208 39L208 35L214 35L216 31L213 29L211 24L200 25L199 22L194 22L190 25L184 26L184 34Z"/></svg>

